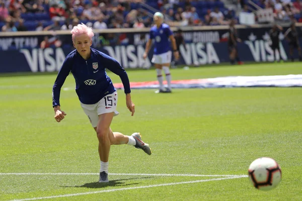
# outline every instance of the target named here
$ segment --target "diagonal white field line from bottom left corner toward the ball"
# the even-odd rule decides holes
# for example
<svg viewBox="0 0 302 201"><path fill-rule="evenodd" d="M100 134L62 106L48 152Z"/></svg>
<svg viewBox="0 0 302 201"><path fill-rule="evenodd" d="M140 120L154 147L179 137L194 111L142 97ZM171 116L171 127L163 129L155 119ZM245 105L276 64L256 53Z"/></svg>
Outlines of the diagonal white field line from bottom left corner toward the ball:
<svg viewBox="0 0 302 201"><path fill-rule="evenodd" d="M199 182L206 182L206 181L218 181L218 180L235 179L235 178L242 178L242 177L246 177L246 175L224 177L224 178L203 179L203 180L196 180L196 181L183 181L183 182L175 182L175 183L162 183L162 184L155 184L155 185L143 185L143 186L136 186L136 187L117 188L117 189L109 189L109 190L99 190L99 191L82 192L82 193L74 193L74 194L53 195L53 196L46 196L46 197L33 197L33 198L25 198L25 199L14 199L14 200L11 200L11 201L26 201L26 200L50 199L50 198L58 198L58 197L70 197L70 196L88 195L88 194L96 194L96 193L103 193L103 192L114 192L114 191L122 191L122 190L132 190L132 189L139 189L139 188L152 188L152 187L178 185L178 184L187 184L187 183L199 183Z"/></svg>

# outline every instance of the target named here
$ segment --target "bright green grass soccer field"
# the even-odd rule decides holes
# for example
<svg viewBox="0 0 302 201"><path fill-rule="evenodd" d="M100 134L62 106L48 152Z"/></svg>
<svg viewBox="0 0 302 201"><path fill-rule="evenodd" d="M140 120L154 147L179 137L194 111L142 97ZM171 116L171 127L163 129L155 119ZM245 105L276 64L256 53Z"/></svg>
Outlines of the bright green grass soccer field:
<svg viewBox="0 0 302 201"><path fill-rule="evenodd" d="M173 79L301 73L300 63L172 69ZM155 70L128 75L130 81L156 79ZM53 118L55 77L0 77L0 200L302 200L300 87L174 89L172 94L133 89L133 117L118 90L120 115L112 130L140 132L153 154L112 146L114 174L108 184L99 184L98 140L74 90L61 91L66 118L61 123ZM72 75L63 87L74 87ZM262 156L282 168L282 181L271 191L255 189L247 177L250 163Z"/></svg>

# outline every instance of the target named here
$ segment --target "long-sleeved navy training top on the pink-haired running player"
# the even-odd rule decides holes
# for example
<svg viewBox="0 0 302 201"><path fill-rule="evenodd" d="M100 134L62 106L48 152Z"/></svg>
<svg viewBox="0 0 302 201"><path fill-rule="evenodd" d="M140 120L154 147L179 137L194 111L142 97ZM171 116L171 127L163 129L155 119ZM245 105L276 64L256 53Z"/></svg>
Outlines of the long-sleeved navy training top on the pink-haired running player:
<svg viewBox="0 0 302 201"><path fill-rule="evenodd" d="M67 55L52 88L53 107L60 105L60 90L69 72L75 79L75 91L83 104L96 104L116 90L105 68L119 75L125 93L130 93L128 75L122 66L114 58L93 48L90 50L91 56L87 60L77 50Z"/></svg>

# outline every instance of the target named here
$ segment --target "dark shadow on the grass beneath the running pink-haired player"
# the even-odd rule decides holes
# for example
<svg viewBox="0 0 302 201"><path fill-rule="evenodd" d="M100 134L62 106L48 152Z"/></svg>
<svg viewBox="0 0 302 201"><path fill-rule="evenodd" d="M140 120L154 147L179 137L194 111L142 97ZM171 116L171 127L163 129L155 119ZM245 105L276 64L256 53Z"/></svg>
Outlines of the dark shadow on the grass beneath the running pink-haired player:
<svg viewBox="0 0 302 201"><path fill-rule="evenodd" d="M137 178L125 178L125 179L114 179L109 180L108 183L99 183L99 182L92 182L92 183L85 183L83 185L75 185L75 186L62 186L62 187L80 187L80 188L104 188L107 186L127 186L139 183L125 183L123 181L126 180L134 180L134 179L147 179L150 177L137 177Z"/></svg>

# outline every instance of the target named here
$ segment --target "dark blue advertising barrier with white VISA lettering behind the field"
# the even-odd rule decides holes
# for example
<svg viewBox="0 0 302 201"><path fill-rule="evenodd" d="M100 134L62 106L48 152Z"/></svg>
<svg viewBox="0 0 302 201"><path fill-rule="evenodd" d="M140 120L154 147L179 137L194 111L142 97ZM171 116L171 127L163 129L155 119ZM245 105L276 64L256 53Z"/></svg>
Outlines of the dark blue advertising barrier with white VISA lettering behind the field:
<svg viewBox="0 0 302 201"><path fill-rule="evenodd" d="M268 28L261 29L238 29L238 35L243 40L238 44L239 56L242 61L273 61L273 51L270 48ZM285 31L285 30L284 30ZM180 47L179 64L205 65L221 62L229 62L227 45L228 30L210 31L184 31L186 45ZM49 36L54 37L54 36ZM53 72L61 67L65 56L74 48L69 34L55 36L62 41L59 48L49 47L40 49L40 43L44 35L35 36L0 36L0 72ZM152 65L152 51L148 59L142 58L145 42L148 34L146 32L134 32L117 34L116 40L106 40L102 34L96 34L93 48L98 49L115 59L124 68L142 68ZM282 39L283 35L280 35ZM302 41L300 41L302 42ZM117 45L118 44L118 45ZM280 43L281 58L288 59L288 44L282 40ZM297 53L295 52L295 58ZM277 55L279 57L279 55Z"/></svg>

